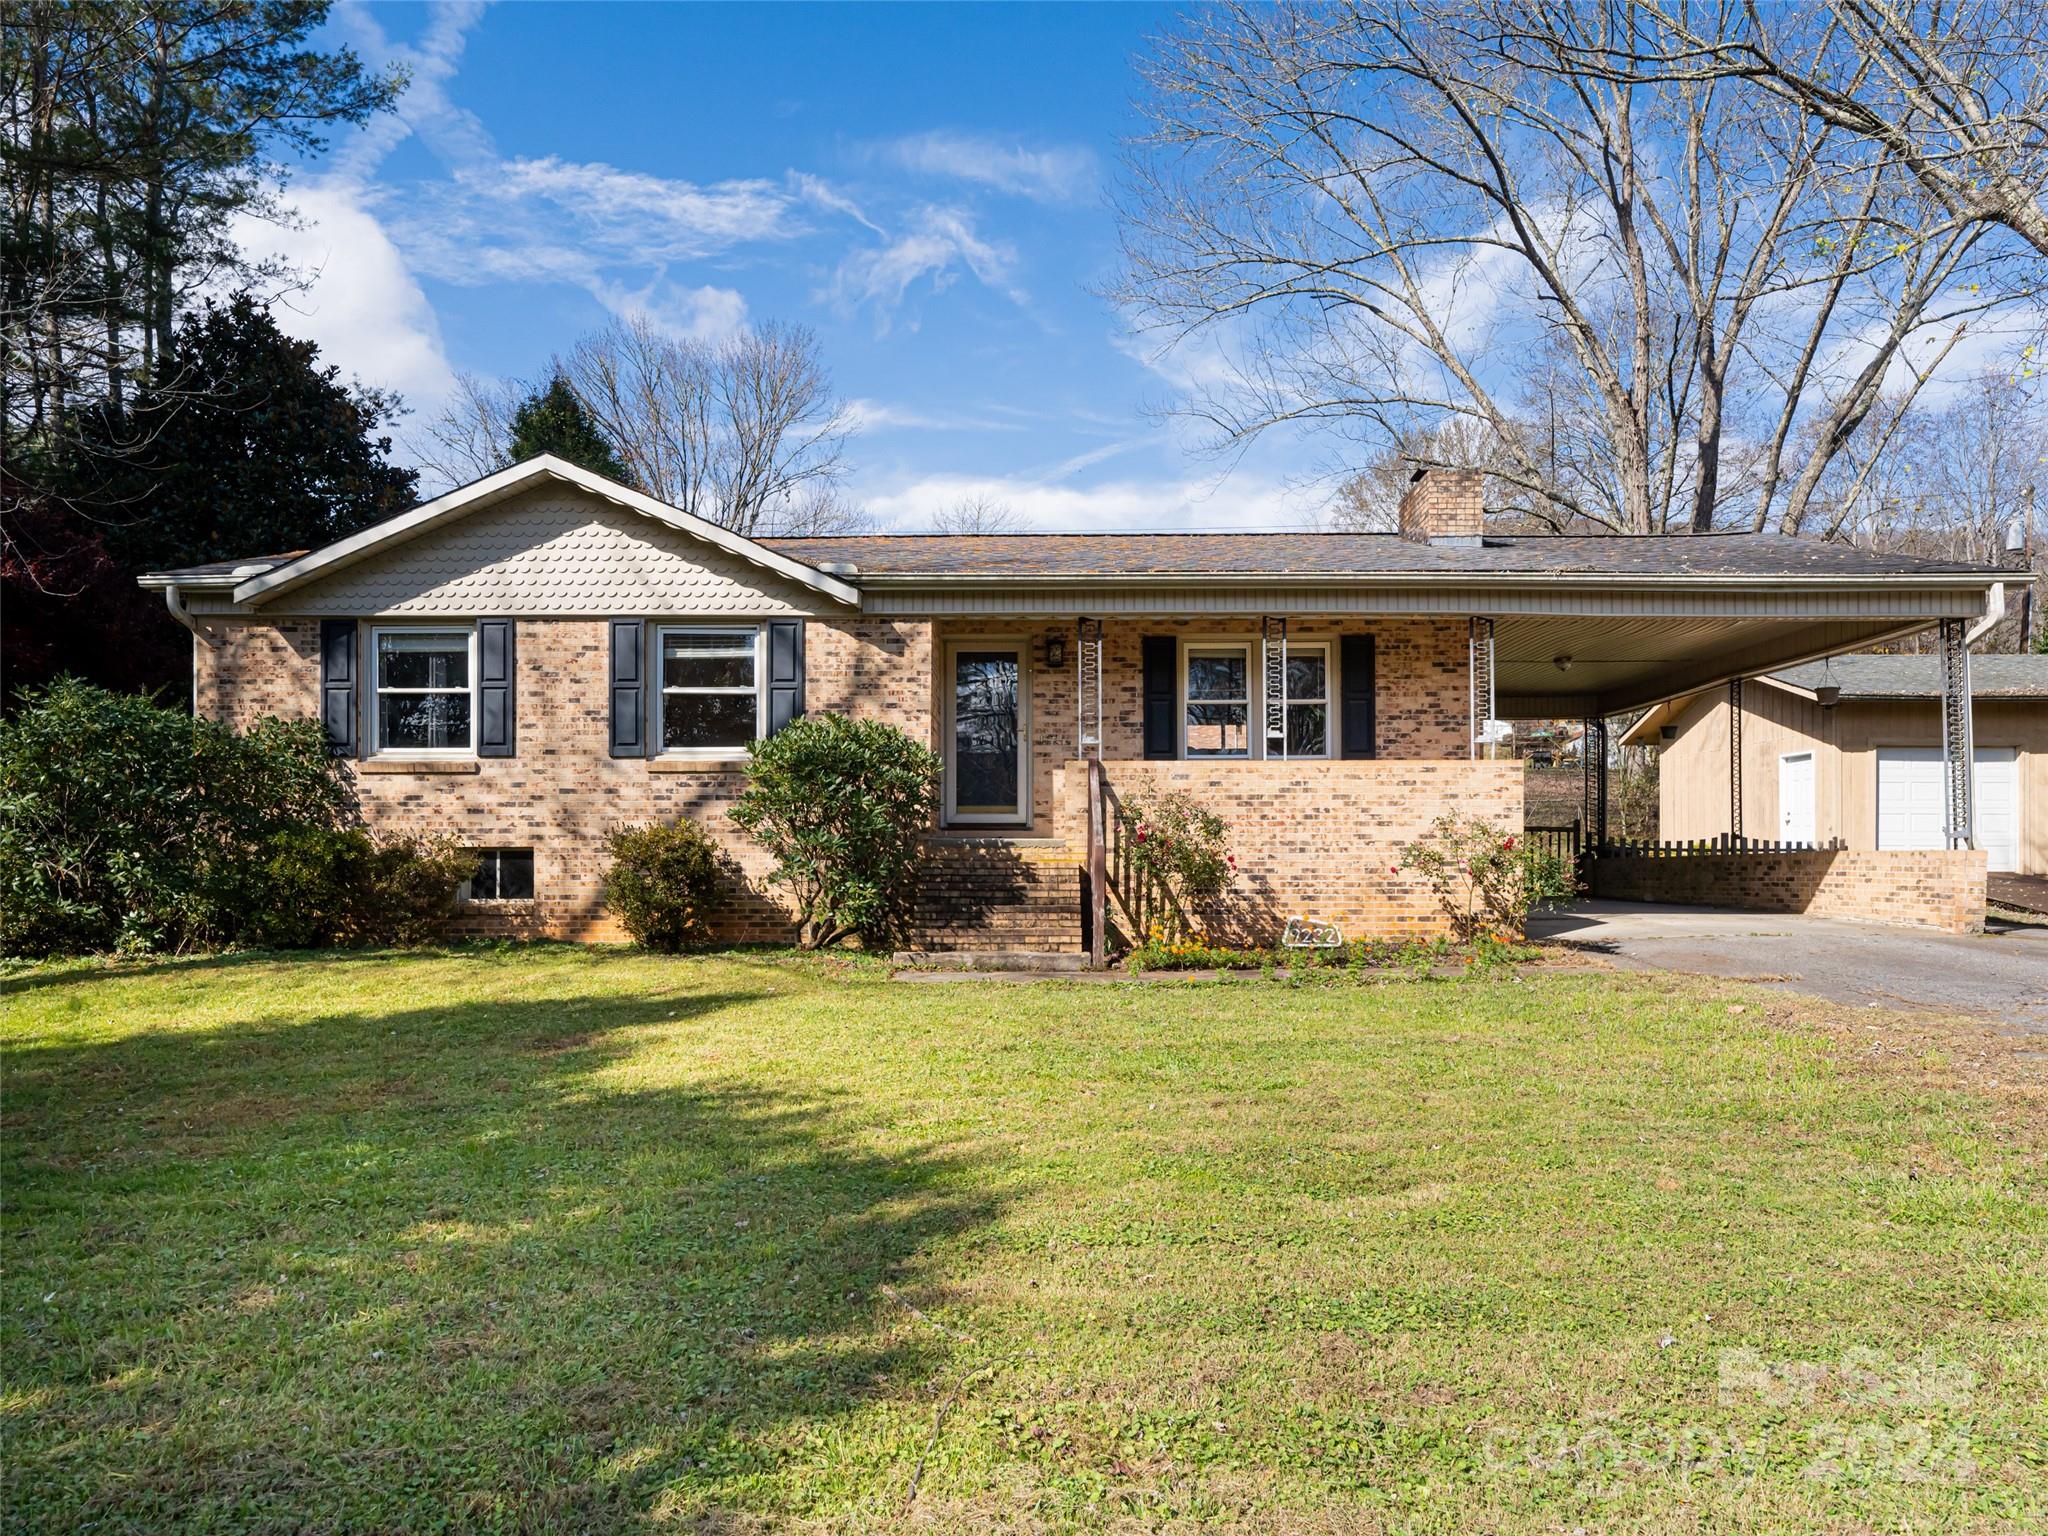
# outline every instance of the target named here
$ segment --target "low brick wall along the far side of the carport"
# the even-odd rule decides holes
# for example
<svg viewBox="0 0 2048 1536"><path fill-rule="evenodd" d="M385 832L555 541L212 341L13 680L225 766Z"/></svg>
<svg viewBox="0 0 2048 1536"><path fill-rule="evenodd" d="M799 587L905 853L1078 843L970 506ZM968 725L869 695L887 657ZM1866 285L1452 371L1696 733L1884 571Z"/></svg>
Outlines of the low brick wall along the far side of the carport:
<svg viewBox="0 0 2048 1536"><path fill-rule="evenodd" d="M1980 848L1602 856L1591 887L1608 901L1802 911L1948 934L1985 928Z"/></svg>

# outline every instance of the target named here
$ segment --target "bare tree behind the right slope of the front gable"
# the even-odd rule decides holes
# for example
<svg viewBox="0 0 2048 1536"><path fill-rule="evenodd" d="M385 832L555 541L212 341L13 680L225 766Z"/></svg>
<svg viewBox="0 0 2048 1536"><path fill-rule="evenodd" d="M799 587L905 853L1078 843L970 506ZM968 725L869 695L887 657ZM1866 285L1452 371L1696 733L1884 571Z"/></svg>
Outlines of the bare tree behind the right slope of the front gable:
<svg viewBox="0 0 2048 1536"><path fill-rule="evenodd" d="M836 494L852 428L801 326L700 342L616 319L557 371L670 506L748 537L829 532L858 516Z"/></svg>

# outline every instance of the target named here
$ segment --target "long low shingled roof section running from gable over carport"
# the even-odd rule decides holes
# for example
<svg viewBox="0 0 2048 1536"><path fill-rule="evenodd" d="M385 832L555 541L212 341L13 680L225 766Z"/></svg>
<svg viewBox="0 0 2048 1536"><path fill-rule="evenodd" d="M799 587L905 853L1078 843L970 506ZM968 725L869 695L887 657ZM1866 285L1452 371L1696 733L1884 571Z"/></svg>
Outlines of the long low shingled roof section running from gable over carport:
<svg viewBox="0 0 2048 1536"><path fill-rule="evenodd" d="M1174 575L2009 575L1776 532L1489 535L1421 545L1393 532L997 532L762 539L793 559L866 580L1130 580Z"/></svg>

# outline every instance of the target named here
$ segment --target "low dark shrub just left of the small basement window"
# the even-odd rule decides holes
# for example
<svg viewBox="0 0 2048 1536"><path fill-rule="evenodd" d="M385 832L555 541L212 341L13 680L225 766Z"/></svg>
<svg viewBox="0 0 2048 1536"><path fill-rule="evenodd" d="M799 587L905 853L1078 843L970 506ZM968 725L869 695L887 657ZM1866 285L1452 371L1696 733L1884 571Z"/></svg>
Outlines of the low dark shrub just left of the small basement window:
<svg viewBox="0 0 2048 1536"><path fill-rule="evenodd" d="M256 936L281 948L424 944L475 872L475 856L444 838L293 827L270 840Z"/></svg>

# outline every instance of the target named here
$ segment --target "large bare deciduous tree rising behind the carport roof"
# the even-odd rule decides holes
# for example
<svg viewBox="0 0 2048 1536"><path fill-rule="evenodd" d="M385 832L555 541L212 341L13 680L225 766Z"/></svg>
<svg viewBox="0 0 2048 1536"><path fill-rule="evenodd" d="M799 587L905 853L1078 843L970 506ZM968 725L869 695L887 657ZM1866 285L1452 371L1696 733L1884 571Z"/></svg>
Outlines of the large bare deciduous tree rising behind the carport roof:
<svg viewBox="0 0 2048 1536"><path fill-rule="evenodd" d="M1798 104L1583 68L1657 29L1352 0L1165 39L1116 291L1206 365L1188 408L1219 446L1464 422L1499 500L1552 526L1800 526L1886 391L2030 297L1982 225L1884 156L1843 170Z"/></svg>

